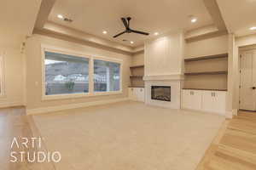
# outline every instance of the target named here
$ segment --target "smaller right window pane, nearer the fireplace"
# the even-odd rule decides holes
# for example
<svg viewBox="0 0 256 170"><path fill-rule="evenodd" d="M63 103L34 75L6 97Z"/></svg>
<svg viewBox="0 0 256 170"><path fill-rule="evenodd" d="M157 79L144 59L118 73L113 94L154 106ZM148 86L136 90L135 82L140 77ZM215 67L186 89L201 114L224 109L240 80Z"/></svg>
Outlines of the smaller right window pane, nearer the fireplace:
<svg viewBox="0 0 256 170"><path fill-rule="evenodd" d="M94 92L120 90L120 64L94 59Z"/></svg>

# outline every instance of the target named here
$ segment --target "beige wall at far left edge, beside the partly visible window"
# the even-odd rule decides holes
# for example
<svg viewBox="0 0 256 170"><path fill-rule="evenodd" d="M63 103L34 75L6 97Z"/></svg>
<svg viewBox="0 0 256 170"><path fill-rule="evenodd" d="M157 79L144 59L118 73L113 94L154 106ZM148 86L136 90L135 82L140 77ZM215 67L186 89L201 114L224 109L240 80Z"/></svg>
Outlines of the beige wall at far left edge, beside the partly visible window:
<svg viewBox="0 0 256 170"><path fill-rule="evenodd" d="M4 95L0 107L24 105L24 62L20 48L0 48L3 55Z"/></svg>

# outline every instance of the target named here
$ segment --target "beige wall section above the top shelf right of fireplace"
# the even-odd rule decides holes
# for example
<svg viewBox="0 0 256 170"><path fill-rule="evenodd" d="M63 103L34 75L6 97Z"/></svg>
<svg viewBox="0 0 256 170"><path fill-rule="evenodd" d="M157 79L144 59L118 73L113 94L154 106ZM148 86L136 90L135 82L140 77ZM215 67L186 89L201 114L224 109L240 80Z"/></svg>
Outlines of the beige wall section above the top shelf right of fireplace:
<svg viewBox="0 0 256 170"><path fill-rule="evenodd" d="M186 43L185 58L228 53L228 35Z"/></svg>

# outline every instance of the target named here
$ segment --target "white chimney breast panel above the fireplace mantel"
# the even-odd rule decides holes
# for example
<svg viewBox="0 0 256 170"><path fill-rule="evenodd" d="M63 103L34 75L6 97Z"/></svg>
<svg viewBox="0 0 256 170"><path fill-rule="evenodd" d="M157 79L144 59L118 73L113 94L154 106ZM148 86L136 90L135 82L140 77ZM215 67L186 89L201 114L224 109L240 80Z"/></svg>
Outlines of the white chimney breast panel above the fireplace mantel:
<svg viewBox="0 0 256 170"><path fill-rule="evenodd" d="M183 33L170 34L145 43L145 76L183 72Z"/></svg>

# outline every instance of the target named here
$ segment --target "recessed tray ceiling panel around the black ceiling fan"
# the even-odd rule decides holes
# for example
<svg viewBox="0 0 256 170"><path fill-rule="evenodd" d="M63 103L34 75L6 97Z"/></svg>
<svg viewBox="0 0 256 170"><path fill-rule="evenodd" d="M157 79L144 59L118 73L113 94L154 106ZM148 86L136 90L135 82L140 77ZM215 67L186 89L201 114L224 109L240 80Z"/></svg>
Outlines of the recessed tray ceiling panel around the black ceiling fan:
<svg viewBox="0 0 256 170"><path fill-rule="evenodd" d="M60 20L57 14L63 14L73 22ZM189 15L195 15L198 21L191 24ZM132 18L131 28L148 31L151 35L131 33L113 39L113 35L124 31L120 18L127 16ZM154 37L155 31L162 34L212 24L203 0L57 0L49 20L126 45L131 44L122 42L123 39L133 41L132 46L142 45L144 40ZM108 31L108 34L103 35L102 31Z"/></svg>

